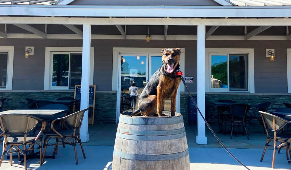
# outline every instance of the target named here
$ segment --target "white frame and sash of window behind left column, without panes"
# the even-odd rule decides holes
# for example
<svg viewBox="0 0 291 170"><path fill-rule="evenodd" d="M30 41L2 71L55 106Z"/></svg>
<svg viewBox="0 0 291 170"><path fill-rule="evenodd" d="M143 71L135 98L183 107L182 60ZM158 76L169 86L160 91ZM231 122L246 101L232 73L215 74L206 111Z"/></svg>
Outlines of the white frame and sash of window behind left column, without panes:
<svg viewBox="0 0 291 170"><path fill-rule="evenodd" d="M82 47L45 47L45 74L44 74L44 90L68 90L74 91L70 85L66 87L52 86L52 69L53 69L53 54L70 54L82 53ZM70 59L69 59L70 60ZM70 61L69 61L70 72ZM94 47L90 48L90 79L89 83L93 85L94 78ZM69 83L69 78L68 78Z"/></svg>

